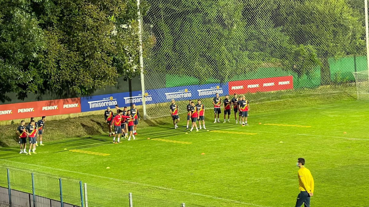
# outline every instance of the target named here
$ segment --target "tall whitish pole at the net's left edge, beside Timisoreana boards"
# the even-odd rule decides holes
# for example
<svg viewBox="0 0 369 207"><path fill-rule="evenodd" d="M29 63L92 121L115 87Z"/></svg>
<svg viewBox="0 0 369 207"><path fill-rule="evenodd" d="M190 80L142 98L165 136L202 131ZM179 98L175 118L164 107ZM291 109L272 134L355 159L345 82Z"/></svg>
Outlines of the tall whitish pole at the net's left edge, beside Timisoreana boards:
<svg viewBox="0 0 369 207"><path fill-rule="evenodd" d="M140 3L139 3L139 0L137 0L137 20L138 20L138 40L139 40L139 69L141 71L142 111L143 111L143 114L144 114L144 120L146 120L144 59L142 58L142 22L141 22L141 12L140 12L139 6L140 6Z"/></svg>

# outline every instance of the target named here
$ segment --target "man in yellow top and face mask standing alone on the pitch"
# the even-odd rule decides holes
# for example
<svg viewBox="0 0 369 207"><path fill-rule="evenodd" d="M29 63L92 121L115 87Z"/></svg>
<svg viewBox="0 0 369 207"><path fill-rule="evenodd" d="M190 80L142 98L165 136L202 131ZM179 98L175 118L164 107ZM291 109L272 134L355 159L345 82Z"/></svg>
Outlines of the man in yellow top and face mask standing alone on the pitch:
<svg viewBox="0 0 369 207"><path fill-rule="evenodd" d="M300 169L297 172L297 176L299 177L299 190L300 193L297 196L296 207L300 207L304 203L304 207L310 207L310 196L313 196L314 192L314 179L305 166L305 159L299 158L297 159L296 166Z"/></svg>

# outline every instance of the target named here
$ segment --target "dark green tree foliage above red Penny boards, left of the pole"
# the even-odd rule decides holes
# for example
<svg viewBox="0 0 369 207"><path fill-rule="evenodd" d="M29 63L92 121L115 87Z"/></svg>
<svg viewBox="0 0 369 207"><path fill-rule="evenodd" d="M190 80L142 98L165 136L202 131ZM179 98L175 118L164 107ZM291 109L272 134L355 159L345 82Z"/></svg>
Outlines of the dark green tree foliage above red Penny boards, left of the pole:
<svg viewBox="0 0 369 207"><path fill-rule="evenodd" d="M87 94L136 76L137 25L135 0L1 1L0 94Z"/></svg>

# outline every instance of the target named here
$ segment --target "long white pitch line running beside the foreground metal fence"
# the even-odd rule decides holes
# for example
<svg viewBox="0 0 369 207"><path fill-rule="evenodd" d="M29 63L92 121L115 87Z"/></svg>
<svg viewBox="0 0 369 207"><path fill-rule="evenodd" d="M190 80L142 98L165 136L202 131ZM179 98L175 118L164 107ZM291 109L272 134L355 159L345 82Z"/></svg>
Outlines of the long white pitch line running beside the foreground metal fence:
<svg viewBox="0 0 369 207"><path fill-rule="evenodd" d="M187 193L187 194L192 194L192 195L195 195L195 196L203 196L203 197L208 197L208 198L211 198L211 199L224 200L224 201L233 202L233 203L239 203L239 204L244 204L244 205L248 205L248 206L270 207L270 206L262 206L262 205L258 205L258 204L254 204L254 203L247 203L247 202L242 202L242 201L237 201L237 200L224 199L224 198L221 198L221 197L209 196L209 195L201 194L201 193L193 193L193 192L188 192L188 191L184 191L184 190L176 190L176 189L172 189L172 188L161 187L161 186L154 186L154 185L149 185L149 184L144 184L144 183L137 183L137 182L132 182L132 181L128 181L128 180L121 180L121 179L116 179L116 178L108 178L108 177L99 176L99 175L93 175L93 174L89 174L89 173L75 172L75 171L70 171L70 170L65 170L65 169L52 168L52 167L47 167L47 166L42 166L42 165L35 165L35 164L29 164L29 163L24 163L24 162L15 162L15 161L7 160L7 159L0 159L0 160L6 161L6 162L14 162L14 163L17 163L17 164L30 165L30 166L35 166L35 167L48 168L48 169L57 170L57 171L71 172L71 173L76 173L76 174L80 174L80 175L87 175L87 176L92 176L92 177L97 177L97 178L104 178L104 179L116 180L116 181L121 181L121 182L135 184L135 185L155 187L155 188L158 188L158 189L171 190L171 191L180 192L180 193Z"/></svg>

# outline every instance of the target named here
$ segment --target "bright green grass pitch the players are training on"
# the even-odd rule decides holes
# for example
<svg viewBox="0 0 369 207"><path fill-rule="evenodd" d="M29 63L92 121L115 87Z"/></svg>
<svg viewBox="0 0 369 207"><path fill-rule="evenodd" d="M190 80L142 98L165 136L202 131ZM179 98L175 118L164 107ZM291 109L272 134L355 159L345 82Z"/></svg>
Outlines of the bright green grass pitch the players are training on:
<svg viewBox="0 0 369 207"><path fill-rule="evenodd" d="M106 130L98 117L83 118L87 123L82 125L81 119L70 121L76 126L70 126L69 121L50 122L67 132L54 137L63 140L47 141L51 134L46 132L46 145L31 156L17 154L18 148L10 143L10 147L1 148L0 164L80 178L88 185L124 194L132 192L195 206L284 207L296 201L299 190L295 164L297 158L304 157L315 181L313 206L368 206L369 102L331 96L261 103L251 106L250 126L245 127L233 123L233 119L232 123L212 123L208 110L206 127L210 131L189 134L185 134L185 116L180 117L181 127L177 130L172 129L169 117L157 119L144 123L136 140L120 144L112 144L110 137L101 134ZM90 128L85 130L83 126L90 122ZM57 123L63 123L63 127L59 129ZM75 136L78 129L83 131L80 137L69 138L68 132ZM110 155L70 152L65 148Z"/></svg>

